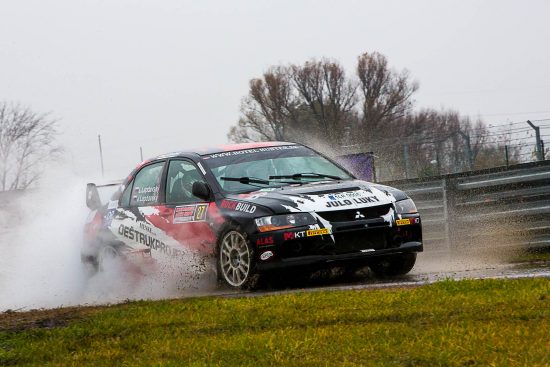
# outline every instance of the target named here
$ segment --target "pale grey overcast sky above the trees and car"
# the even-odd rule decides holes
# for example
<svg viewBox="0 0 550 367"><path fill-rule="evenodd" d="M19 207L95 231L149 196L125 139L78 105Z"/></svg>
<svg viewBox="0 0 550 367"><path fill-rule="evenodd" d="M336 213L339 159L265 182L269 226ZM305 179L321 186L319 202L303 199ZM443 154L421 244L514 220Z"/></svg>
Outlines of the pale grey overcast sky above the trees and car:
<svg viewBox="0 0 550 367"><path fill-rule="evenodd" d="M416 106L488 123L550 118L550 1L0 0L0 100L59 119L83 176L227 142L277 64L385 54Z"/></svg>

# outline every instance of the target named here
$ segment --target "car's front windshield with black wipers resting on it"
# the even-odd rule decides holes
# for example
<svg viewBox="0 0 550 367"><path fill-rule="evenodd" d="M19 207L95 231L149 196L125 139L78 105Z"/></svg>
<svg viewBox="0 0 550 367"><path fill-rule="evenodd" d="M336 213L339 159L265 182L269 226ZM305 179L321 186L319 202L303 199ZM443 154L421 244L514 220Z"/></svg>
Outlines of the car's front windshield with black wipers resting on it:
<svg viewBox="0 0 550 367"><path fill-rule="evenodd" d="M327 158L301 145L236 150L202 158L228 193L352 178Z"/></svg>

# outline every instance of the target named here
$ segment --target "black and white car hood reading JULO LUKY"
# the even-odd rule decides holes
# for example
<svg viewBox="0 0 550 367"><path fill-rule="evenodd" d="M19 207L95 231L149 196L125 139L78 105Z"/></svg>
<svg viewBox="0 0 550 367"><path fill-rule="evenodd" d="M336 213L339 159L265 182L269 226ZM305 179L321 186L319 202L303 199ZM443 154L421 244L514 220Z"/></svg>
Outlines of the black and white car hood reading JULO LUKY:
<svg viewBox="0 0 550 367"><path fill-rule="evenodd" d="M397 198L396 198L397 196ZM267 207L275 214L289 212L325 212L387 205L404 194L388 186L361 180L321 181L266 188L247 194L228 195L228 199ZM405 196L406 197L406 196Z"/></svg>

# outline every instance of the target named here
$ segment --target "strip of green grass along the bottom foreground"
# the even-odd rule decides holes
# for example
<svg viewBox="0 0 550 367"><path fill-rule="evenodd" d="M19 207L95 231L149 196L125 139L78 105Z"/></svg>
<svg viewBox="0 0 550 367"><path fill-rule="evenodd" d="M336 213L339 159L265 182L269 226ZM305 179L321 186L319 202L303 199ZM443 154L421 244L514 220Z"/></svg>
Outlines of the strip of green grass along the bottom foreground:
<svg viewBox="0 0 550 367"><path fill-rule="evenodd" d="M549 366L550 280L0 314L0 365Z"/></svg>

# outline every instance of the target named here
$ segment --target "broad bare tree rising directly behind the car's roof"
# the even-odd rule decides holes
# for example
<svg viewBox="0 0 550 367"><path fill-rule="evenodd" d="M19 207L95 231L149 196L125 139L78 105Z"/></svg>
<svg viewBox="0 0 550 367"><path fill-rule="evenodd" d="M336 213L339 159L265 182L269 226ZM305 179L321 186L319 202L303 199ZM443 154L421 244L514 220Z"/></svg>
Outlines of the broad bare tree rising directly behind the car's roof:
<svg viewBox="0 0 550 367"><path fill-rule="evenodd" d="M232 141L289 140L331 146L342 143L356 114L356 85L335 61L278 66L252 79Z"/></svg>

